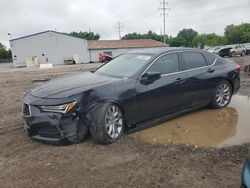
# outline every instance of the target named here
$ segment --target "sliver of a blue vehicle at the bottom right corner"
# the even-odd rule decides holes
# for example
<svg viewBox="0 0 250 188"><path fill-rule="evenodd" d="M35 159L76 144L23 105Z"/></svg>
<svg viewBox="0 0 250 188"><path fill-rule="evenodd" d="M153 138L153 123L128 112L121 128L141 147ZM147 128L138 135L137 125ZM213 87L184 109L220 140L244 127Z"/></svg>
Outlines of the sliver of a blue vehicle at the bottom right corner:
<svg viewBox="0 0 250 188"><path fill-rule="evenodd" d="M244 162L241 173L241 187L250 188L250 150L248 152L248 158Z"/></svg>

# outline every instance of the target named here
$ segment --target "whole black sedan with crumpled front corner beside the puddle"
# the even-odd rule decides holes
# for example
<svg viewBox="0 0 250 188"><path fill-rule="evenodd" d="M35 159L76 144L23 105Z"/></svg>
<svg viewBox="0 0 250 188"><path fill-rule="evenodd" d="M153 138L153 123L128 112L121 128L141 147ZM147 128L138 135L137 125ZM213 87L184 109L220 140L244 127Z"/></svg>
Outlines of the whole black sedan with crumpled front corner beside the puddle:
<svg viewBox="0 0 250 188"><path fill-rule="evenodd" d="M51 80L24 97L25 129L35 139L100 144L205 106L226 107L240 66L189 48L125 53L93 72Z"/></svg>

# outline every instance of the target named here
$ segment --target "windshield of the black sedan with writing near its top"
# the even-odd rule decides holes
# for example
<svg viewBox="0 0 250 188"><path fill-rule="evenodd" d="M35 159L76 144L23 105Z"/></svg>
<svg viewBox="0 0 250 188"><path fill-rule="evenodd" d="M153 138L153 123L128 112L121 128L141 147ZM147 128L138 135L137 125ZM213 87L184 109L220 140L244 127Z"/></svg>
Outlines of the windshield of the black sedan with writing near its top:
<svg viewBox="0 0 250 188"><path fill-rule="evenodd" d="M150 58L151 55L148 54L123 54L100 67L95 73L128 78L140 70Z"/></svg>

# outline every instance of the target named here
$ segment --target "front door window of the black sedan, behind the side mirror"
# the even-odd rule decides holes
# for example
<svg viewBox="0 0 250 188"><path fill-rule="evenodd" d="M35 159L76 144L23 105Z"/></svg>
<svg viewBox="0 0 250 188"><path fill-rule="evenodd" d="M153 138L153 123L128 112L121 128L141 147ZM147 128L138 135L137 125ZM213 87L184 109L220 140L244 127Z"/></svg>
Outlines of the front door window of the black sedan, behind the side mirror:
<svg viewBox="0 0 250 188"><path fill-rule="evenodd" d="M167 54L160 57L148 69L148 71L160 72L161 74L174 73L179 70L180 68L177 53Z"/></svg>

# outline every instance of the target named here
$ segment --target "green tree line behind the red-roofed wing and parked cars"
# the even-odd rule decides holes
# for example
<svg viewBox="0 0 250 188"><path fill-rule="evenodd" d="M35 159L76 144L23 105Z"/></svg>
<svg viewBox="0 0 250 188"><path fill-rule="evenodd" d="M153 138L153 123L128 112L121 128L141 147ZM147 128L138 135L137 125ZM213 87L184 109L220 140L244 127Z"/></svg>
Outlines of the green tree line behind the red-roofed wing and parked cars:
<svg viewBox="0 0 250 188"><path fill-rule="evenodd" d="M122 39L154 39L163 42L163 35L149 31L146 34L128 33ZM226 44L249 43L250 23L240 25L228 25L224 29L224 35L215 33L199 34L197 31L188 28L178 32L176 37L166 36L166 43L173 47L197 47L200 44L206 46L219 46Z"/></svg>

